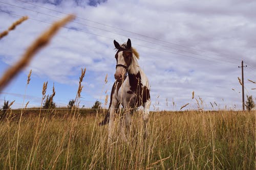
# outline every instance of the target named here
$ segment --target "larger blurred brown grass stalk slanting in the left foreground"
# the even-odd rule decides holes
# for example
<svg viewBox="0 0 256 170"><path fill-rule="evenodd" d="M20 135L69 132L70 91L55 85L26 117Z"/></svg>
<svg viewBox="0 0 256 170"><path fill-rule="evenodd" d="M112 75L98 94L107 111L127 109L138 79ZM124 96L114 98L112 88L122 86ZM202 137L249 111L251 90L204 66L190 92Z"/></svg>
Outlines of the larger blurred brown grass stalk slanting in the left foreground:
<svg viewBox="0 0 256 170"><path fill-rule="evenodd" d="M51 38L57 33L57 31L64 26L67 22L74 19L74 15L68 15L65 18L56 21L50 27L49 30L42 33L31 46L28 47L25 54L22 58L14 64L12 67L6 70L3 74L2 78L0 79L0 91L18 74L20 70L22 70L25 66L29 64L32 57L44 46L46 46Z"/></svg>

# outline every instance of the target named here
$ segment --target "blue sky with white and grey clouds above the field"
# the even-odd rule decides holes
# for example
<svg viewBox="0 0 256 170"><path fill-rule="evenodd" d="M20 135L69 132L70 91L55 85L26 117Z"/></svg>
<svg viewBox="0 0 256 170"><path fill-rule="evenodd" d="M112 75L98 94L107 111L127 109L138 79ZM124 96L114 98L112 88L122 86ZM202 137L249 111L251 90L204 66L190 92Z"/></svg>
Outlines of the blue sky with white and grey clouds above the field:
<svg viewBox="0 0 256 170"><path fill-rule="evenodd" d="M0 39L1 75L51 23L76 15L0 93L0 104L15 100L12 108L22 108L29 101L28 107L38 107L48 81L47 94L54 84L54 102L67 106L86 68L80 106L99 100L107 108L105 96L115 81L113 41L130 38L151 85L151 110L180 110L187 103L184 109L241 110L242 60L245 100L256 96L256 84L248 81L256 81L255 9L250 0L0 0L0 32L21 16L30 18Z"/></svg>

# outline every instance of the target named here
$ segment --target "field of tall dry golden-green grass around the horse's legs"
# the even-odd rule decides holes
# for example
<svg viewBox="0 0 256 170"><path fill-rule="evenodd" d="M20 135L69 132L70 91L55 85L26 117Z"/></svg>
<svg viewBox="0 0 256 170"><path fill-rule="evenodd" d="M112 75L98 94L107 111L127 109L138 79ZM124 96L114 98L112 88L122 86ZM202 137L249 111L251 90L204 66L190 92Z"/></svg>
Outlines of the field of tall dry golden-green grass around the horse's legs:
<svg viewBox="0 0 256 170"><path fill-rule="evenodd" d="M151 112L144 139L138 111L129 142L121 139L116 117L110 145L107 126L98 126L101 112L79 112L49 110L39 117L38 110L24 115L20 126L19 118L2 121L0 169L255 168L253 112Z"/></svg>

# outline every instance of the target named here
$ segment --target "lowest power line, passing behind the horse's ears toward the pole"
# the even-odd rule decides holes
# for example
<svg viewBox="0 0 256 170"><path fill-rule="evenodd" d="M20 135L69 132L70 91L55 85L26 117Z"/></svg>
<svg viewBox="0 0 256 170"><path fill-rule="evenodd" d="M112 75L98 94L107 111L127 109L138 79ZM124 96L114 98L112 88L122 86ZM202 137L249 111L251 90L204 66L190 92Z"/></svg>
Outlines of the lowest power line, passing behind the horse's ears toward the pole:
<svg viewBox="0 0 256 170"><path fill-rule="evenodd" d="M0 3L1 3L1 2L0 2ZM7 13L7 14L11 14L11 15L15 15L15 16L22 16L22 15L13 14L13 13L10 13L10 12L5 12L5 11L1 11L1 12ZM38 19L35 19L35 18L29 17L29 19L35 20L35 21L39 21L39 22L44 22L44 23L47 23L47 24L49 24L49 25L52 25L52 23L50 23L50 22L38 20ZM66 27L66 26L63 26L62 28L74 30L74 29L68 28L68 27ZM78 29L75 29L75 31L82 32L82 33L86 33L86 34L91 34L91 35L95 35L95 36L99 36L99 37L103 37L103 38L108 38L108 39L111 39L111 40L114 39L114 38L111 38L111 37L106 37L106 36L102 36L102 35L95 34L95 33L91 33L91 32L81 31L81 30L78 30ZM172 52L172 51L161 50L161 49L154 48L154 47L150 47L150 46L146 46L146 45L141 45L141 44L136 44L136 43L134 43L134 44L135 44L135 45L138 45L138 46L145 47L145 48L150 48L150 49L153 49L153 50L157 50L157 51L160 51L160 52L165 52L165 53L169 53L169 54L176 54L176 55L183 56L183 57L195 58L195 59L199 59L199 60L205 60L205 61L211 61L211 62L217 62L217 63L221 63L221 64L227 64L227 65L237 66L236 64L234 64L234 63L232 63L232 62L228 62L228 61L223 61L223 62L226 62L226 63L223 63L223 62L219 62L219 61L215 61L215 60L208 60L208 59L205 59L205 58L199 58L199 57L195 57L195 56L187 56L187 55L175 53L175 52ZM212 59L212 58L210 58L210 59Z"/></svg>

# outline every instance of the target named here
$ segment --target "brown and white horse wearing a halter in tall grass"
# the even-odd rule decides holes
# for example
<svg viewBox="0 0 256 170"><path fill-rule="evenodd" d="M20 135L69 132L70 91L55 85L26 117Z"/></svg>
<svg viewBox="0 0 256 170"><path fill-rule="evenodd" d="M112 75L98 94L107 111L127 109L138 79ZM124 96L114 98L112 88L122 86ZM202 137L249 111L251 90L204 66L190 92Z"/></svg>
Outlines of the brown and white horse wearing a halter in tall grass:
<svg viewBox="0 0 256 170"><path fill-rule="evenodd" d="M114 40L114 45L116 48L115 83L111 90L108 112L99 125L102 126L109 123L108 142L111 142L115 111L121 104L125 110L125 114L122 116L121 120L121 134L122 139L127 141L125 129L127 127L131 128L131 115L134 109L143 106L142 118L145 138L147 136L146 124L148 122L151 105L150 85L144 71L138 64L139 54L135 48L132 47L131 40L128 39L127 42L122 45Z"/></svg>

